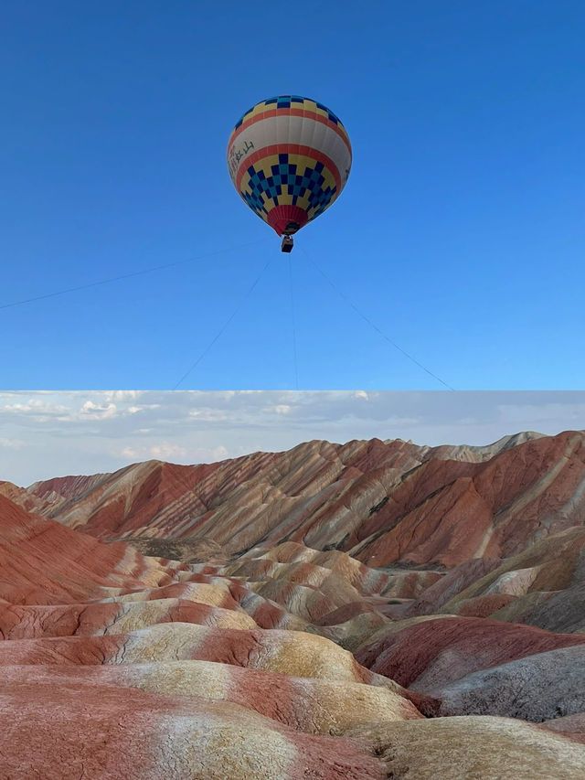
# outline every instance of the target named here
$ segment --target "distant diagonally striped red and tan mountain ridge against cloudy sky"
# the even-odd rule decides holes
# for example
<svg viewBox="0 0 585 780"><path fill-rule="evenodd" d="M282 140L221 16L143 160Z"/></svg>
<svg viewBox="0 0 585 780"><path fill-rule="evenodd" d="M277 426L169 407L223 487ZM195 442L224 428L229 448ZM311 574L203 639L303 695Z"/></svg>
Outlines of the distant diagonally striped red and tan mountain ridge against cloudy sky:
<svg viewBox="0 0 585 780"><path fill-rule="evenodd" d="M452 566L513 555L581 522L585 434L517 441L475 449L310 442L219 464L151 461L63 477L28 495L100 538L199 540L228 555L288 539L333 545L370 566Z"/></svg>

